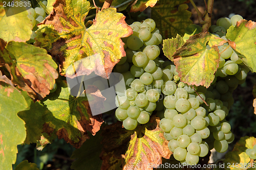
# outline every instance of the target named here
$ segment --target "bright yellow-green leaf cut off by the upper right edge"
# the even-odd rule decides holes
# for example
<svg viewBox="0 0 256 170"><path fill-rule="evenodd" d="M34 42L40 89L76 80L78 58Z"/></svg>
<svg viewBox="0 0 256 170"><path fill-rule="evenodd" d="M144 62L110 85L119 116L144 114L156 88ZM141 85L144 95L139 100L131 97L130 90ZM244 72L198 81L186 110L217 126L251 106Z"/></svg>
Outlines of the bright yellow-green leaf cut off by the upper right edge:
<svg viewBox="0 0 256 170"><path fill-rule="evenodd" d="M227 30L229 45L241 60L253 71L256 71L256 23L240 20L235 27Z"/></svg>

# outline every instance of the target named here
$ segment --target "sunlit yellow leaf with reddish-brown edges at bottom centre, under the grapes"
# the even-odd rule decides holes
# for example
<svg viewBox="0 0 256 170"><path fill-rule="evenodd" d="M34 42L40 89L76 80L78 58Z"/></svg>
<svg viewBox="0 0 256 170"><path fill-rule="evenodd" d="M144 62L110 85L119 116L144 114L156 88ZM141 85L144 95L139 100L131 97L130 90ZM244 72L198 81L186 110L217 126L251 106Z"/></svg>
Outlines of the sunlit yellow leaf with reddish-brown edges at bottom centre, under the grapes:
<svg viewBox="0 0 256 170"><path fill-rule="evenodd" d="M159 122L159 119L152 118L146 128L135 131L131 136L129 148L124 155L126 164L123 169L153 169L148 164L159 165L162 157L170 157L168 141L163 136Z"/></svg>

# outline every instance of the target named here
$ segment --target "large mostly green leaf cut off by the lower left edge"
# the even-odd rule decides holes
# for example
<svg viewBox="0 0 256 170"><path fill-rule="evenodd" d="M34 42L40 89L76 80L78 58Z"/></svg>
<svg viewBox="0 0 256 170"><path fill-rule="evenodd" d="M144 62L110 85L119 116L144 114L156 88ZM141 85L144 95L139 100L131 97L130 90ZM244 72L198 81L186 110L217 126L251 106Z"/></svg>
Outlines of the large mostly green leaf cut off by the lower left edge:
<svg viewBox="0 0 256 170"><path fill-rule="evenodd" d="M10 170L16 161L17 145L26 138L25 123L17 113L27 107L23 95L0 80L0 169Z"/></svg>

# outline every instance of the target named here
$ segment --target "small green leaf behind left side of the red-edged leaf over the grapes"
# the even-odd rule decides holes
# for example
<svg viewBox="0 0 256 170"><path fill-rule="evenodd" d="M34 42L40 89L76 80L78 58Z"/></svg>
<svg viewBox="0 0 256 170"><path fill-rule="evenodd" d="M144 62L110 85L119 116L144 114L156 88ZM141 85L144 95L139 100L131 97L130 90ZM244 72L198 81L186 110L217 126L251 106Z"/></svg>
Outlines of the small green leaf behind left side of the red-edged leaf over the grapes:
<svg viewBox="0 0 256 170"><path fill-rule="evenodd" d="M172 57L176 50L184 44L182 37L177 34L176 38L163 40L163 53L169 59L174 61Z"/></svg>

